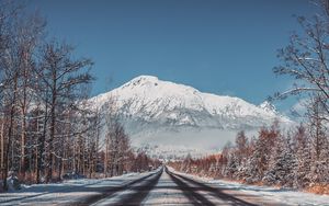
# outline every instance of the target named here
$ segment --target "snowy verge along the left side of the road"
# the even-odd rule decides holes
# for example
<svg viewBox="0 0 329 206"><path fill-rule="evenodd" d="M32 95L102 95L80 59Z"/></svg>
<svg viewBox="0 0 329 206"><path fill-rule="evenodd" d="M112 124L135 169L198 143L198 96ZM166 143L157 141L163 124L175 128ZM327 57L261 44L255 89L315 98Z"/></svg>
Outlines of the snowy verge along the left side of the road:
<svg viewBox="0 0 329 206"><path fill-rule="evenodd" d="M0 194L0 205L69 205L91 195L99 195L109 187L123 186L151 173L128 173L109 179L69 180L54 184L34 184L22 190Z"/></svg>

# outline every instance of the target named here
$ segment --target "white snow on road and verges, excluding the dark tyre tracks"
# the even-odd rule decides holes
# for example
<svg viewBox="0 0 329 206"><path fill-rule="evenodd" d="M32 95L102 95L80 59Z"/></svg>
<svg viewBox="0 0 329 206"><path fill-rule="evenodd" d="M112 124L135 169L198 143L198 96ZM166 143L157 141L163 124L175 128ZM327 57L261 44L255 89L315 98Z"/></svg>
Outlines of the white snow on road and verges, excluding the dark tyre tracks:
<svg viewBox="0 0 329 206"><path fill-rule="evenodd" d="M23 190L11 193L0 194L0 205L79 205L81 201L87 199L93 195L100 195L109 187L124 186L132 181L140 178L147 178L150 174L158 172L160 169L152 172L145 173L129 173L121 176L100 179L100 180L70 180L59 184L39 184L24 186ZM173 171L172 168L169 168ZM316 195L303 193L291 190L280 190L276 187L246 185L236 182L228 182L223 180L213 180L207 178L200 178L196 175L185 174L173 171L180 175L203 182L208 186L218 187L223 193L232 195L237 198L249 198L252 203L262 203L260 205L328 205L329 195ZM115 204L127 196L136 194L136 188L143 185L143 182L134 184L134 187L127 187L124 191L118 191L111 196L97 202L94 205ZM186 186L190 185L185 182ZM205 199L216 203L218 205L227 204L223 199L215 198L206 190L196 190L194 192L202 195ZM178 205L191 204L191 199L186 198L184 191L170 179L163 171L159 181L152 190L146 195L141 204L146 205Z"/></svg>

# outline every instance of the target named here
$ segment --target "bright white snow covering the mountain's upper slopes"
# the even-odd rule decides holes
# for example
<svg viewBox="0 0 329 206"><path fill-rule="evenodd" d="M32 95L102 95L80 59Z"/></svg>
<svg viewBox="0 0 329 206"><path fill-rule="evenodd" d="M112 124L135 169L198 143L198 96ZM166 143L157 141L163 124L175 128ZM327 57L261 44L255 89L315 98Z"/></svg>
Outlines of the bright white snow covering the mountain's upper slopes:
<svg viewBox="0 0 329 206"><path fill-rule="evenodd" d="M111 98L117 101L117 107L129 103L128 112L132 115L143 115L141 112L147 114L145 116L148 116L149 113L159 115L161 114L159 111L166 113L185 108L206 112L211 115L235 116L236 118L258 116L268 121L280 118L283 122L290 122L287 117L276 115L269 102L256 106L239 98L203 93L192 87L162 81L152 76L137 77L120 88L91 99L91 102L102 106ZM168 113L167 115L172 118L174 117L172 114ZM186 118L186 115L183 115L182 118Z"/></svg>

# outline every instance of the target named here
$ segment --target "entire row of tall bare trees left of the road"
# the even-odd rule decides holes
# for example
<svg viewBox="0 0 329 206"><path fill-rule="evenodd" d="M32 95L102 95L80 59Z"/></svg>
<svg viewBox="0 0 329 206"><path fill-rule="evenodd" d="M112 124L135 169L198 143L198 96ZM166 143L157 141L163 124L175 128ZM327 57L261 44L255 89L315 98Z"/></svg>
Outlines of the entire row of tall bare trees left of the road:
<svg viewBox="0 0 329 206"><path fill-rule="evenodd" d="M15 175L25 183L48 183L159 164L134 152L118 121L104 124L99 108L87 101L93 61L46 33L41 15L27 14L16 1L0 1L2 187Z"/></svg>

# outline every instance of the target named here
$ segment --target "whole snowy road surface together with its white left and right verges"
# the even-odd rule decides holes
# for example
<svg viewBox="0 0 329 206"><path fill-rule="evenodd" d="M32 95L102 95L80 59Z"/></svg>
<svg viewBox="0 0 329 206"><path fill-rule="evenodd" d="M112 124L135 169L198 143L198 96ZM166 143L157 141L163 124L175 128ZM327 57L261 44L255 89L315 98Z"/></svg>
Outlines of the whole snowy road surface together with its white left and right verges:
<svg viewBox="0 0 329 206"><path fill-rule="evenodd" d="M249 193L246 190L241 191L240 187L203 181L164 168L152 172L125 174L111 179L77 180L61 184L33 185L20 192L0 194L0 205L248 206L300 205L300 202L298 204L287 204L284 199L266 198L261 192Z"/></svg>

